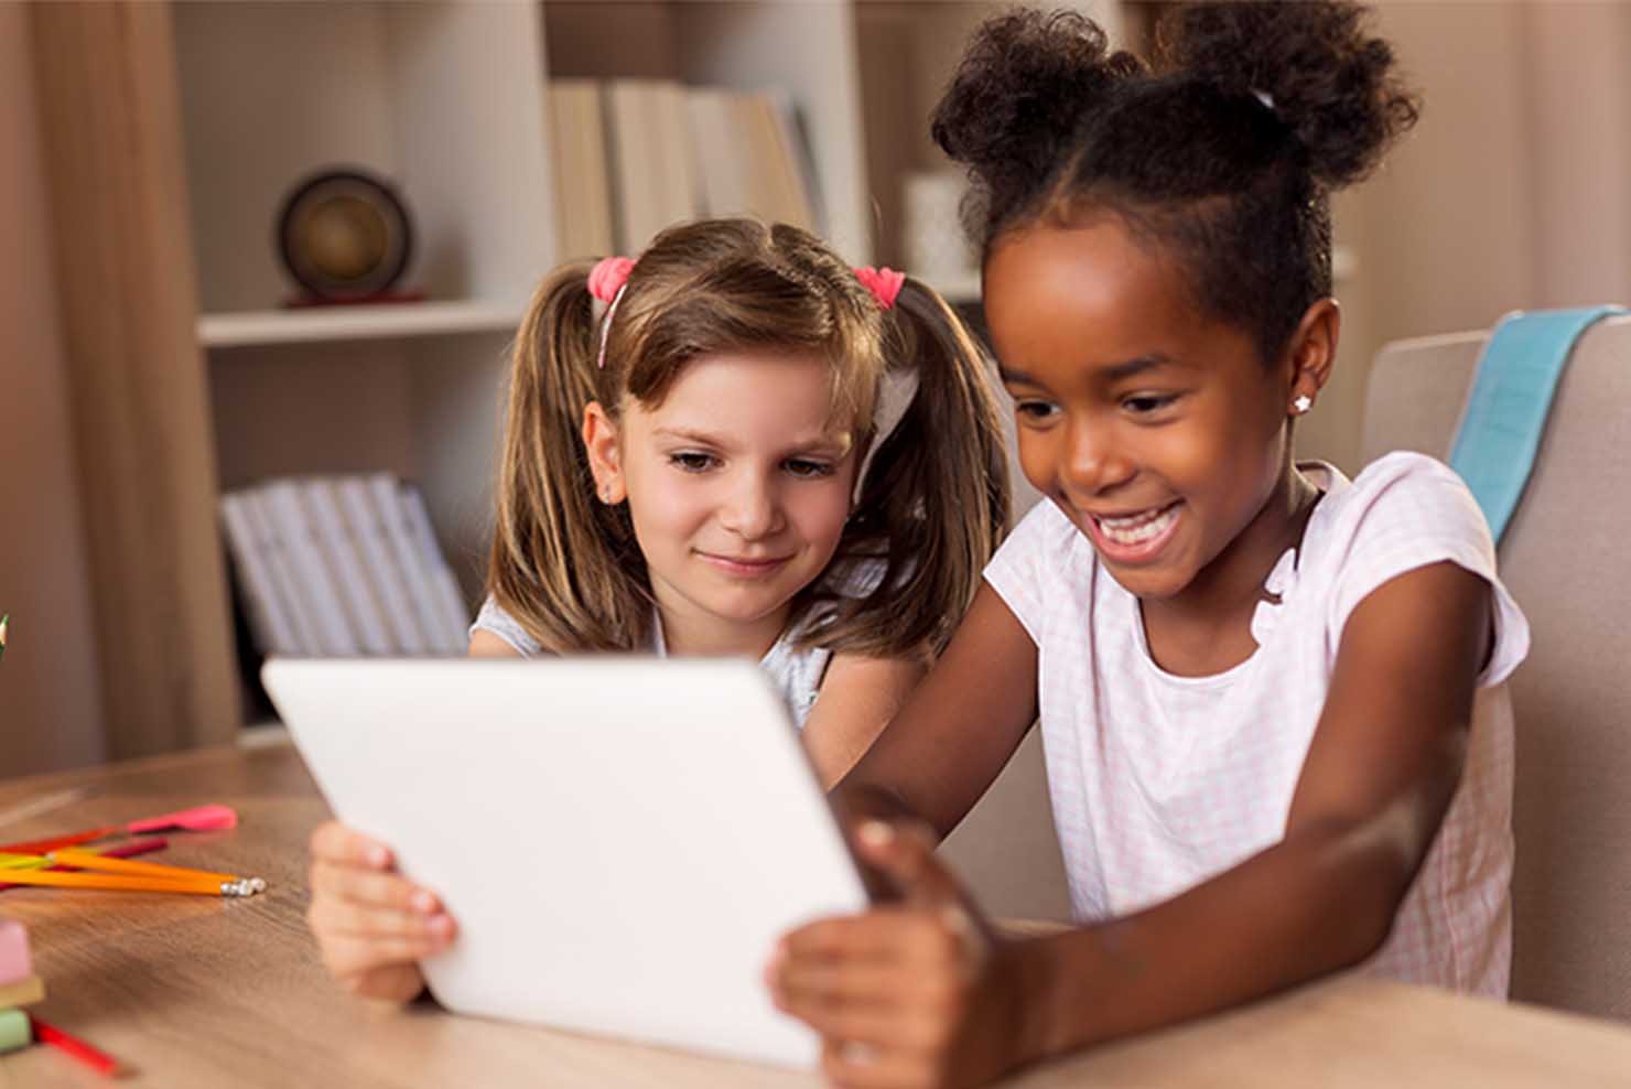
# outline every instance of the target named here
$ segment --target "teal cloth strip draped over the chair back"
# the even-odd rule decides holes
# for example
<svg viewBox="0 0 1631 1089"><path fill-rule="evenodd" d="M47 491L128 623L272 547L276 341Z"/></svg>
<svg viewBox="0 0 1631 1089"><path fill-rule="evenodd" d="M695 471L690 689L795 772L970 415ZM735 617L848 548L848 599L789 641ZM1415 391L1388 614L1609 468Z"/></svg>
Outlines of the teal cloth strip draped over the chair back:
<svg viewBox="0 0 1631 1089"><path fill-rule="evenodd" d="M1593 323L1620 313L1626 313L1624 306L1514 313L1502 318L1484 346L1450 448L1450 468L1473 491L1496 544L1535 470L1551 398L1574 342Z"/></svg>

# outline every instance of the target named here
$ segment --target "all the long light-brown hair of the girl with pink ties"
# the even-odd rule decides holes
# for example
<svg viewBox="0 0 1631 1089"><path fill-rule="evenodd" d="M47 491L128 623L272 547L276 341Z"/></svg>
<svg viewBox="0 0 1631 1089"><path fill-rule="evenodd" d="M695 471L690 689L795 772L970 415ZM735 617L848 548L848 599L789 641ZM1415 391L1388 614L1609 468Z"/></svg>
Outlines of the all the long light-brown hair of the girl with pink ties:
<svg viewBox="0 0 1631 1089"><path fill-rule="evenodd" d="M889 311L816 236L755 220L701 220L652 241L630 274L597 367L600 321L589 264L538 287L515 339L497 527L488 590L555 654L649 646L651 582L626 505L597 502L581 440L584 408L617 421L625 396L656 408L685 364L719 352L806 351L832 364L835 419L874 440L884 370L912 367L918 391L861 484L827 572L881 561L846 597L816 579L830 623L802 644L874 657L936 654L979 587L1008 522L1003 430L985 360L933 289L907 280Z"/></svg>

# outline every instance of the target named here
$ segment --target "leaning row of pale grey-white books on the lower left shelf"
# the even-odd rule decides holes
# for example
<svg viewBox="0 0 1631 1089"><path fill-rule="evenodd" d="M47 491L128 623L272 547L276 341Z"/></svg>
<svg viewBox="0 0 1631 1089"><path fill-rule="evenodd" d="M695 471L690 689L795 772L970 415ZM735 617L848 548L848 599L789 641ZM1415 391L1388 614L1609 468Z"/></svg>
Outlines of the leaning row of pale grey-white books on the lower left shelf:
<svg viewBox="0 0 1631 1089"><path fill-rule="evenodd" d="M261 654L463 654L468 606L411 484L274 479L223 494L220 520Z"/></svg>

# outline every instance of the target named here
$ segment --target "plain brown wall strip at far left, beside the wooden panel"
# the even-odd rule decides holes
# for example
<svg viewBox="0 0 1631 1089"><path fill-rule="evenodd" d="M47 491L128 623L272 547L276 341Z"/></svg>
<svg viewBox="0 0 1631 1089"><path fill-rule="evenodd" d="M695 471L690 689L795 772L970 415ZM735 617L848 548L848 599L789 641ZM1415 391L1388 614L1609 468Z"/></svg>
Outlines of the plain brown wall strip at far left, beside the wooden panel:
<svg viewBox="0 0 1631 1089"><path fill-rule="evenodd" d="M104 755L29 42L0 2L0 779Z"/></svg>

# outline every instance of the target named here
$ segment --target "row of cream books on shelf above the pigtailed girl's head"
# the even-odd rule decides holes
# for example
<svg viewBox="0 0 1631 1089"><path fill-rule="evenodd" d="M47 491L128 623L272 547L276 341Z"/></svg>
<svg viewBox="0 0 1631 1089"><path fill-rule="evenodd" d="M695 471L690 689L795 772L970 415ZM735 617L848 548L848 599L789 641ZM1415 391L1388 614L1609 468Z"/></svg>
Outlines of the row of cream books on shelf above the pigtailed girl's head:
<svg viewBox="0 0 1631 1089"><path fill-rule="evenodd" d="M700 215L819 230L809 150L783 93L551 80L548 96L568 258L636 254Z"/></svg>

